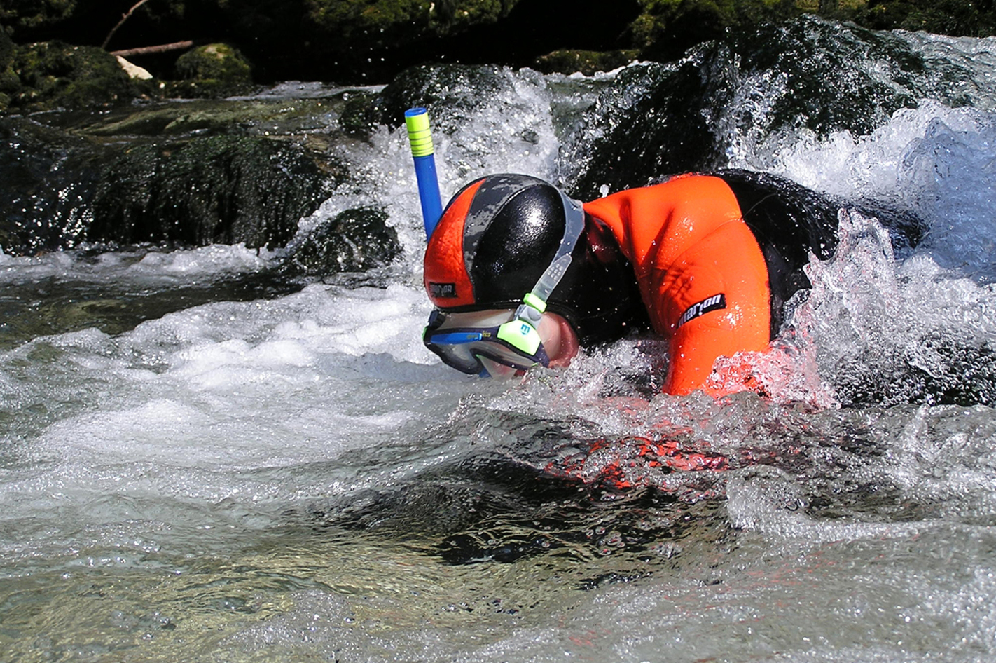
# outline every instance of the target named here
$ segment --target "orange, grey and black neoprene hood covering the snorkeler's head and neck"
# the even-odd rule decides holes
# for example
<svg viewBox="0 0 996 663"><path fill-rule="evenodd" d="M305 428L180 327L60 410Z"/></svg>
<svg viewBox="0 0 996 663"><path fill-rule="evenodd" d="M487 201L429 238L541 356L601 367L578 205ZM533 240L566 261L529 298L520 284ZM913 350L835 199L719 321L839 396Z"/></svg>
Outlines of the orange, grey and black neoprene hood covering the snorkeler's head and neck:
<svg viewBox="0 0 996 663"><path fill-rule="evenodd" d="M565 224L560 191L542 179L504 173L470 182L429 237L429 299L452 312L516 308L554 259ZM620 338L645 322L632 266L609 227L590 215L547 307L585 345Z"/></svg>

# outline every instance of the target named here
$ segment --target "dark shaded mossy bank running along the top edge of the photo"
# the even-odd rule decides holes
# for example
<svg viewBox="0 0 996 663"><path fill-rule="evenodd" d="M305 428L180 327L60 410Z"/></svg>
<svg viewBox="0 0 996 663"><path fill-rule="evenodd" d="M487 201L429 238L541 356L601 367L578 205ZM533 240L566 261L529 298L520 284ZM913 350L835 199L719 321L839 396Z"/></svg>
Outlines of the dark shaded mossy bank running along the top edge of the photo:
<svg viewBox="0 0 996 663"><path fill-rule="evenodd" d="M556 31L538 28L530 17L542 2L563 5L570 14L565 18L602 17L595 32L606 33L599 46L604 50L564 43L553 36ZM139 56L135 64L165 82L143 88L90 50L133 4L3 0L0 112L110 104L136 95L227 96L251 85L250 70L262 81L382 83L412 65L473 61L482 35L490 40L488 57L495 64L592 73L633 57L671 61L695 44L749 34L803 13L876 30L996 34L992 0L620 0L619 10L610 12L623 17L614 26L601 24L606 0L147 0L115 34L113 48L188 39L207 46L178 60L159 55L146 63ZM38 41L47 45L31 44Z"/></svg>

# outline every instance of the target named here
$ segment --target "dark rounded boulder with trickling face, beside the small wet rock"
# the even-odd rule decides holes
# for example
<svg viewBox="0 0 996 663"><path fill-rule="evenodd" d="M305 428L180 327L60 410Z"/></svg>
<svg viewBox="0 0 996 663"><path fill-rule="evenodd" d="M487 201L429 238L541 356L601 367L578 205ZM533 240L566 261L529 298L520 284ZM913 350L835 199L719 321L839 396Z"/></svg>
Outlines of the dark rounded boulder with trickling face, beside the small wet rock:
<svg viewBox="0 0 996 663"><path fill-rule="evenodd" d="M91 240L283 246L330 190L293 145L211 136L131 147L97 186Z"/></svg>

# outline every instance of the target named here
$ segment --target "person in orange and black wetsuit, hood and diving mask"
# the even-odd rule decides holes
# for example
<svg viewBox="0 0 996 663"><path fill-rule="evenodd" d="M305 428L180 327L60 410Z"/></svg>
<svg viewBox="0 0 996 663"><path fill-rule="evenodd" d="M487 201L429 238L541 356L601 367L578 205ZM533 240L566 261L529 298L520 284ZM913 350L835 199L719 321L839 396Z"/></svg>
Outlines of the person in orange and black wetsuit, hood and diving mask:
<svg viewBox="0 0 996 663"><path fill-rule="evenodd" d="M459 371L498 376L649 328L668 342L663 391L703 389L718 357L768 349L786 301L810 287L810 252L836 246L836 209L739 170L585 204L542 179L488 175L453 196L429 238L423 340Z"/></svg>

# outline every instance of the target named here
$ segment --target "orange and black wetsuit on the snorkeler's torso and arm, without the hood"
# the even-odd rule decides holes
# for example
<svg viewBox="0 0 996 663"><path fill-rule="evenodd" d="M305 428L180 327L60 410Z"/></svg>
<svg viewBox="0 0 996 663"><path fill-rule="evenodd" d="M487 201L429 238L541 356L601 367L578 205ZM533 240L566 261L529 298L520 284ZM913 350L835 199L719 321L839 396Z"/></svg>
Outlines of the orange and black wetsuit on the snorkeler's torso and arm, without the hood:
<svg viewBox="0 0 996 663"><path fill-rule="evenodd" d="M809 285L809 250L825 256L835 241L828 219L813 222L755 183L683 175L585 205L612 229L651 326L669 342L667 393L704 388L717 357L766 350L783 304Z"/></svg>

